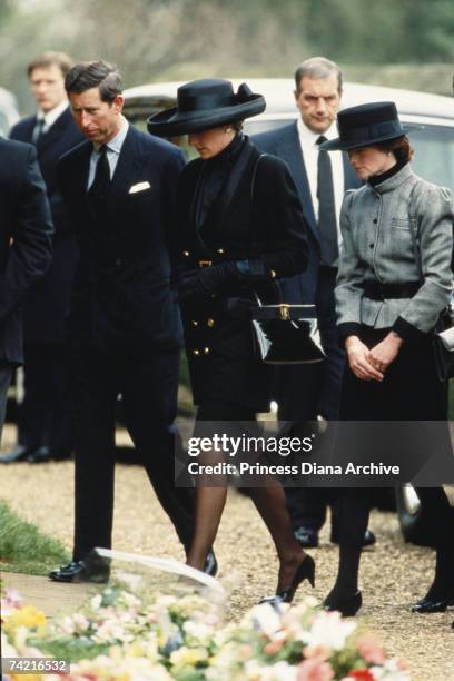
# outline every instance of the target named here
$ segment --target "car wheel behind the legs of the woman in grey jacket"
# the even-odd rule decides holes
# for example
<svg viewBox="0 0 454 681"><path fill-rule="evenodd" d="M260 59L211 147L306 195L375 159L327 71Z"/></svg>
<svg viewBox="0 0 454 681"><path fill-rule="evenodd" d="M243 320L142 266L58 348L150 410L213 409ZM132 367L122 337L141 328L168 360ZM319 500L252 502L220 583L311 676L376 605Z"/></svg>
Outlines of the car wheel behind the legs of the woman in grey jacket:
<svg viewBox="0 0 454 681"><path fill-rule="evenodd" d="M404 540L420 546L433 547L427 513L424 512L417 492L411 484L397 487L396 511Z"/></svg>

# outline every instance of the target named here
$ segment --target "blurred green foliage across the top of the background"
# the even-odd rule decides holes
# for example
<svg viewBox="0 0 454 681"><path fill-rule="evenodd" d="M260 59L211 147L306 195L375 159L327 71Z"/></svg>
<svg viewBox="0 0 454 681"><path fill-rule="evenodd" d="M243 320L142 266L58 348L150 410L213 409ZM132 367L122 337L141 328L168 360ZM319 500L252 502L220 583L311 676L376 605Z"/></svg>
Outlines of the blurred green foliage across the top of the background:
<svg viewBox="0 0 454 681"><path fill-rule="evenodd" d="M49 49L117 62L134 86L290 76L313 55L371 71L452 63L453 34L453 0L0 0L0 82L31 110L26 67Z"/></svg>

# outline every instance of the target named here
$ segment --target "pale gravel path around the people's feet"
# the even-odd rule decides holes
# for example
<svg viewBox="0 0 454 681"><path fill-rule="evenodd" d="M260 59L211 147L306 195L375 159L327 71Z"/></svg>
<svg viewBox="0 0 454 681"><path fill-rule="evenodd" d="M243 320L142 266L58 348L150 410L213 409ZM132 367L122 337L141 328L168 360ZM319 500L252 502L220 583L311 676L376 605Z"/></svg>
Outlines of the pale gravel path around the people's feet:
<svg viewBox="0 0 454 681"><path fill-rule="evenodd" d="M0 497L68 547L72 540L72 463L10 464L0 467ZM417 681L454 681L454 611L415 615L411 603L431 581L433 553L405 545L394 514L374 512L372 529L378 543L365 552L362 588L365 604L359 620L378 632L392 655L409 663ZM145 472L118 465L114 547L121 551L182 559L176 535L154 499ZM259 598L273 592L277 561L269 536L249 500L231 492L223 517L216 553L219 579L234 585L230 615L237 618ZM337 566L337 549L322 533L317 561L317 598L326 595ZM300 593L307 592L307 586Z"/></svg>

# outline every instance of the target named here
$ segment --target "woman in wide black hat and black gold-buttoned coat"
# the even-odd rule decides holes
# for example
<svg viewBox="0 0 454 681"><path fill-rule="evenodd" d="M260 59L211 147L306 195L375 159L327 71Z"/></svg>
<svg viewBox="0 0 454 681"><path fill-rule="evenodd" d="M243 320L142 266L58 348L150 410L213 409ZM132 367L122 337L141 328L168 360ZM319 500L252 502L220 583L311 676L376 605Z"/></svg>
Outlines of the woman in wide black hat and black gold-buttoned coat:
<svg viewBox="0 0 454 681"><path fill-rule="evenodd" d="M233 315L233 302L253 304L255 289L272 290L275 279L306 266L305 224L289 170L275 157L260 157L241 134L240 121L264 109L264 98L245 83L235 93L227 80L204 79L180 87L177 107L148 121L151 134L188 132L200 157L181 175L172 235L198 406L196 435L211 435L213 422L238 426L268 411L269 366L255 357L250 319ZM207 458L223 461L214 452ZM196 490L187 562L199 570L216 539L226 494L225 486ZM250 496L278 553L276 593L292 601L303 580L314 584L314 561L293 535L282 487L254 488Z"/></svg>

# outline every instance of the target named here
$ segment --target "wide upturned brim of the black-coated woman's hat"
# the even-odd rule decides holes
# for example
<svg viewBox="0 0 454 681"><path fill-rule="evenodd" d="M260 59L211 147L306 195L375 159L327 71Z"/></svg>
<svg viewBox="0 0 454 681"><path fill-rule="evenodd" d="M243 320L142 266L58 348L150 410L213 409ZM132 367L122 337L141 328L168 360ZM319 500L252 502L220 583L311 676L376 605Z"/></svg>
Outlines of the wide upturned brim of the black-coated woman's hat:
<svg viewBox="0 0 454 681"><path fill-rule="evenodd" d="M177 137L258 116L265 108L266 101L261 95L253 95L246 102L218 109L178 111L177 107L171 107L150 116L147 128L158 137Z"/></svg>

